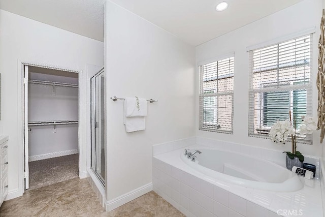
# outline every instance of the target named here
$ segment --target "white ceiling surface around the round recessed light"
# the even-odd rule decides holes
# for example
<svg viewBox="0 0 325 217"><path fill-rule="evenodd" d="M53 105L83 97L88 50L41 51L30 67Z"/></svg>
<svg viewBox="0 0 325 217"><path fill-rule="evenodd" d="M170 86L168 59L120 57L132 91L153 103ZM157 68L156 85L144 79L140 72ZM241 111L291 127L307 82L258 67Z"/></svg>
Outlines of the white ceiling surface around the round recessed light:
<svg viewBox="0 0 325 217"><path fill-rule="evenodd" d="M0 9L103 41L105 1L0 0ZM224 1L228 9L217 12L221 0L111 0L194 46L303 0Z"/></svg>

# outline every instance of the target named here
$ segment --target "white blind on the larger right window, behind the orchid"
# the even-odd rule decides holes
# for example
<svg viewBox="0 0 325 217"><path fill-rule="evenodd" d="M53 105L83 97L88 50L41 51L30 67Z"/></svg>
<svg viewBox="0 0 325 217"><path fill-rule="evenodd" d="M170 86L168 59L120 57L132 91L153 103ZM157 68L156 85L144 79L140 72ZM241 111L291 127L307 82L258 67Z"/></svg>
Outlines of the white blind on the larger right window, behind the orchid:
<svg viewBox="0 0 325 217"><path fill-rule="evenodd" d="M312 35L291 39L249 51L248 135L268 137L277 120L311 115ZM293 121L294 126L294 121ZM311 143L310 135L297 135L299 142Z"/></svg>

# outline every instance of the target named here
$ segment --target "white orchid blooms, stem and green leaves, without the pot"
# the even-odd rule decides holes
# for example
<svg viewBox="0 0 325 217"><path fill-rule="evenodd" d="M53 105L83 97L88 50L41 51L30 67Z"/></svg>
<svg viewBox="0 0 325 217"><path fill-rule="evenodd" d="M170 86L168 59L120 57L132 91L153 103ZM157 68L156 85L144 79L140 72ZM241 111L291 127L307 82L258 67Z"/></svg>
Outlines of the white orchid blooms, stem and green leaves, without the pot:
<svg viewBox="0 0 325 217"><path fill-rule="evenodd" d="M290 120L291 120L291 114ZM292 143L292 151L284 151L290 159L294 159L295 157L299 158L299 161L304 161L304 156L302 153L297 151L297 141L296 141L296 119L294 118L295 128L291 125L290 120L278 120L272 126L269 136L274 142L283 143L288 139L289 135L291 135L291 143ZM302 116L302 125L300 126L299 133L300 134L312 134L313 131L317 129L317 123L312 117ZM284 153L283 152L283 153Z"/></svg>

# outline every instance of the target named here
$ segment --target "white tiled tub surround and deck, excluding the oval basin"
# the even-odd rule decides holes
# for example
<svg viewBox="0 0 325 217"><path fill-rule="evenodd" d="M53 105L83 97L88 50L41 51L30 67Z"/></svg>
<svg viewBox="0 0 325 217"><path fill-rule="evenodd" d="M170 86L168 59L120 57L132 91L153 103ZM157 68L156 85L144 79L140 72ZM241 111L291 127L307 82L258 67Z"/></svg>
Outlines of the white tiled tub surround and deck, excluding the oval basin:
<svg viewBox="0 0 325 217"><path fill-rule="evenodd" d="M204 139L197 138L197 143L200 140ZM216 142L216 140L213 141L209 141L210 147L215 145L230 149L236 145L236 148L239 148L238 150L243 150L242 145L229 145ZM176 143L178 141L174 141L172 142L174 145L167 145L166 147L181 146ZM164 146L165 144L161 145ZM162 147L159 148L160 150L163 149ZM260 148L250 146L244 148L247 148L246 153L249 154L264 151L269 154L273 152L272 150L258 150ZM155 147L153 151L155 152ZM273 217L279 216L278 214L282 216L294 216L295 214L299 216L323 216L319 169L317 169L316 177L312 180L300 177L304 187L299 191L271 192L214 180L186 165L180 158L182 153L183 148L179 148L170 152L165 151L165 153L153 157L153 190L187 216ZM277 159L274 157L276 154L274 151L272 159L269 160L275 161ZM306 162L313 163L319 168L317 159L307 157Z"/></svg>

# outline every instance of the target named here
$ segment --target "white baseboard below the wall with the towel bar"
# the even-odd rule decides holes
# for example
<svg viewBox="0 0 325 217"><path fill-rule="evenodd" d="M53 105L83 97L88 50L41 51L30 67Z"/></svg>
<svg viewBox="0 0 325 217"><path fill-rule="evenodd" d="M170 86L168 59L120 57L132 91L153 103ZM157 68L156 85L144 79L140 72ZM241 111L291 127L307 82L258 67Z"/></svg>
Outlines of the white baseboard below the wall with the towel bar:
<svg viewBox="0 0 325 217"><path fill-rule="evenodd" d="M144 194L147 194L148 192L152 191L152 182L143 185L142 187L135 189L131 192L128 192L124 195L121 195L113 200L106 202L106 211L111 211L113 209L116 209L117 207L128 203Z"/></svg>

